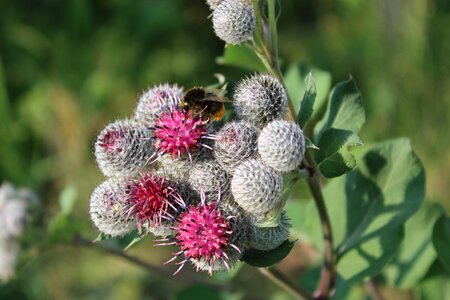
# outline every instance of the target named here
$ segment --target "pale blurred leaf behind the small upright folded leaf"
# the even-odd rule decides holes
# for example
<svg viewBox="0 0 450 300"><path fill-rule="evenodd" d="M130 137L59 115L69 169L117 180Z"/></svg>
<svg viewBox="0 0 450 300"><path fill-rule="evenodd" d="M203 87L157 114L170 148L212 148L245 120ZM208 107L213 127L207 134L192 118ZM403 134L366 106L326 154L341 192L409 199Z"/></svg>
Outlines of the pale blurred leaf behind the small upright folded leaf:
<svg viewBox="0 0 450 300"><path fill-rule="evenodd" d="M301 101L303 99L303 95L305 95L306 92L307 84L305 83L304 79L310 73L312 74L312 76L314 76L317 92L312 112L312 117L315 117L325 103L328 92L330 91L330 73L315 67L308 66L306 64L297 63L292 64L289 67L284 76L284 81L286 83L286 89L289 97L292 100L294 110L297 113L300 110Z"/></svg>

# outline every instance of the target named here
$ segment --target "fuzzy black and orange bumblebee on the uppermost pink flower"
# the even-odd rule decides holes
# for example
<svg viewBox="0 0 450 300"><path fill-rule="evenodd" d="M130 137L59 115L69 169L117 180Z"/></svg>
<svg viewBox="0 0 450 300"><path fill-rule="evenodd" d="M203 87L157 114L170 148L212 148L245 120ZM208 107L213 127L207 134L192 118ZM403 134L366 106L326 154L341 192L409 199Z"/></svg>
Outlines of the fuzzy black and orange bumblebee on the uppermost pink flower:
<svg viewBox="0 0 450 300"><path fill-rule="evenodd" d="M181 107L194 114L219 121L225 114L224 103L231 101L225 97L225 90L195 87L186 92Z"/></svg>

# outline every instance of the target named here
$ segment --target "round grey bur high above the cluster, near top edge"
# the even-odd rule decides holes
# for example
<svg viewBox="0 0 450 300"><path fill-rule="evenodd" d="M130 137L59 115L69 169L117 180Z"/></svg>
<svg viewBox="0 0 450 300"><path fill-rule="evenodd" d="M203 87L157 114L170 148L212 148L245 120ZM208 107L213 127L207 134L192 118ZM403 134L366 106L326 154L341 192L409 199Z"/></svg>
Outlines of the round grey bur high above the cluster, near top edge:
<svg viewBox="0 0 450 300"><path fill-rule="evenodd" d="M255 12L248 0L223 0L215 8L212 20L216 35L232 45L252 39L256 26Z"/></svg>

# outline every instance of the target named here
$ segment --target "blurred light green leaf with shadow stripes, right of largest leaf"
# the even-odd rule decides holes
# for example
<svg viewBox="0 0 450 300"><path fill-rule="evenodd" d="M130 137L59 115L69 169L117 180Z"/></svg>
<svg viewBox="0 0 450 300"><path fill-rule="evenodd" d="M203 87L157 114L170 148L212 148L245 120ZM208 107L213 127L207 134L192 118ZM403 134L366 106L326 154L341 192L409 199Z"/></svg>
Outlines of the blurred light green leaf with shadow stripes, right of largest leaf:
<svg viewBox="0 0 450 300"><path fill-rule="evenodd" d="M424 201L406 222L400 251L383 272L388 284L403 289L413 288L427 274L436 259L431 233L441 214L442 210L437 205Z"/></svg>

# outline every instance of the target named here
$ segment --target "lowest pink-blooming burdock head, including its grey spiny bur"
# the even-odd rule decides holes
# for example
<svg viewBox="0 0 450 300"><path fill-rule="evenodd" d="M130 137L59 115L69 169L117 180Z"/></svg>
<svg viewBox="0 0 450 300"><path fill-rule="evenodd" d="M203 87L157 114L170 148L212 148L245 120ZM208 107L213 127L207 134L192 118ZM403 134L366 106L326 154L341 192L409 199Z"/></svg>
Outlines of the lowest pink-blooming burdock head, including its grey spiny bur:
<svg viewBox="0 0 450 300"><path fill-rule="evenodd" d="M165 244L180 247L168 261L182 257L175 274L188 261L194 263L197 271L205 270L210 275L213 271L229 270L236 264L244 250L241 248L247 244L247 237L238 228L242 226L239 216L225 207L220 203L220 196L217 201L207 203L205 194L201 193L200 203L181 213L174 227L174 239Z"/></svg>

